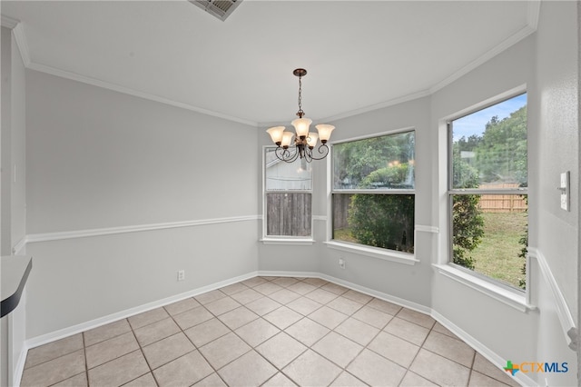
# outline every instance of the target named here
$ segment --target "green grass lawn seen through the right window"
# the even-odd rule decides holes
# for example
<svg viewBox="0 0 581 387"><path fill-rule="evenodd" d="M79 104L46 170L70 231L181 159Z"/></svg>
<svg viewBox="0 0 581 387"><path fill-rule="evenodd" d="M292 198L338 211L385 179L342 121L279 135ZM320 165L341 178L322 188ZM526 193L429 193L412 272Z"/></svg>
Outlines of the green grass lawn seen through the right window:
<svg viewBox="0 0 581 387"><path fill-rule="evenodd" d="M474 271L518 287L525 260L518 256L518 243L527 230L527 213L483 213L484 237L470 253L475 259Z"/></svg>

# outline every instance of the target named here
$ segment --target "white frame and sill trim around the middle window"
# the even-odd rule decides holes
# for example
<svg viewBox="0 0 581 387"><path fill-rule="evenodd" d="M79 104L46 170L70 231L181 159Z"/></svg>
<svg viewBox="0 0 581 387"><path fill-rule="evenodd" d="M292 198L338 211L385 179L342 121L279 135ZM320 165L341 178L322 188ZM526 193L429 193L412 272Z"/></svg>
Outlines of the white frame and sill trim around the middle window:
<svg viewBox="0 0 581 387"><path fill-rule="evenodd" d="M369 138L375 138L375 137L382 137L385 135L395 135L395 134L404 134L404 133L409 133L409 132L413 132L414 134L414 153L415 153L415 142L416 142L416 134L417 134L417 129L415 126L405 126L399 129L394 129L394 130L389 130L389 131L384 131L384 132L379 132L376 134L365 134L365 135L359 135L356 137L350 137L347 139L342 139L339 141L333 141L332 144L330 144L330 157L329 160L327 160L327 213L329 213L329 217L327 219L327 238L325 240L325 242L323 242L328 248L330 249L334 249L334 250L340 250L343 252L347 252L347 253L359 253L361 255L365 255L365 256L369 256L372 258L377 258L377 259L381 259L384 261L389 261L389 262L395 262L395 263L405 263L405 264L409 264L409 265L413 265L416 263L419 263L420 261L418 260L418 258L416 257L416 228L417 228L417 224L416 224L416 197L417 197L417 193L416 193L416 181L414 178L414 189L399 189L399 188L393 188L393 189L362 189L362 190L353 190L353 189L335 189L333 187L333 180L334 180L334 175L333 175L333 170L334 170L334 165L333 165L333 147L336 144L346 144L346 143L352 143L355 141L359 141L359 140L366 140ZM415 164L414 168L416 168L418 165ZM414 196L414 253L403 253L403 252L398 252L396 250L390 250L390 249L384 249L381 247L374 247L374 246L368 246L365 244L361 244L361 243L350 243L350 242L344 242L344 241L340 241L340 240L335 240L333 239L333 193L369 193L369 194L408 194L408 195L413 195Z"/></svg>

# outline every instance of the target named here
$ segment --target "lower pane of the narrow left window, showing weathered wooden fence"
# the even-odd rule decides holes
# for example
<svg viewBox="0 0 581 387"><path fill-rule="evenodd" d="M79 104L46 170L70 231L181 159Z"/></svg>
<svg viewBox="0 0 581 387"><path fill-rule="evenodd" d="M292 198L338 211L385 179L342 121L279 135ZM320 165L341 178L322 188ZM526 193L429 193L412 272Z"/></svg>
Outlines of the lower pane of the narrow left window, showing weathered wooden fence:
<svg viewBox="0 0 581 387"><path fill-rule="evenodd" d="M310 236L310 193L267 193L267 235Z"/></svg>

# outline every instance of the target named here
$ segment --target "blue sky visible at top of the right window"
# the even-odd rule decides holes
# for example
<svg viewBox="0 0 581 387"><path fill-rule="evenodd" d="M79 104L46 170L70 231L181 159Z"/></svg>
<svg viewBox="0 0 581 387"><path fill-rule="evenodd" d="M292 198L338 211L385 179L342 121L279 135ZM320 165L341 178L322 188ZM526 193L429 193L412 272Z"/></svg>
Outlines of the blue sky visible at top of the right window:
<svg viewBox="0 0 581 387"><path fill-rule="evenodd" d="M462 136L466 139L472 134L481 136L484 133L487 123L492 117L497 115L498 121L506 118L511 113L516 112L527 104L527 94L520 94L510 98L500 104L494 104L486 109L479 110L473 114L454 120L454 142Z"/></svg>

